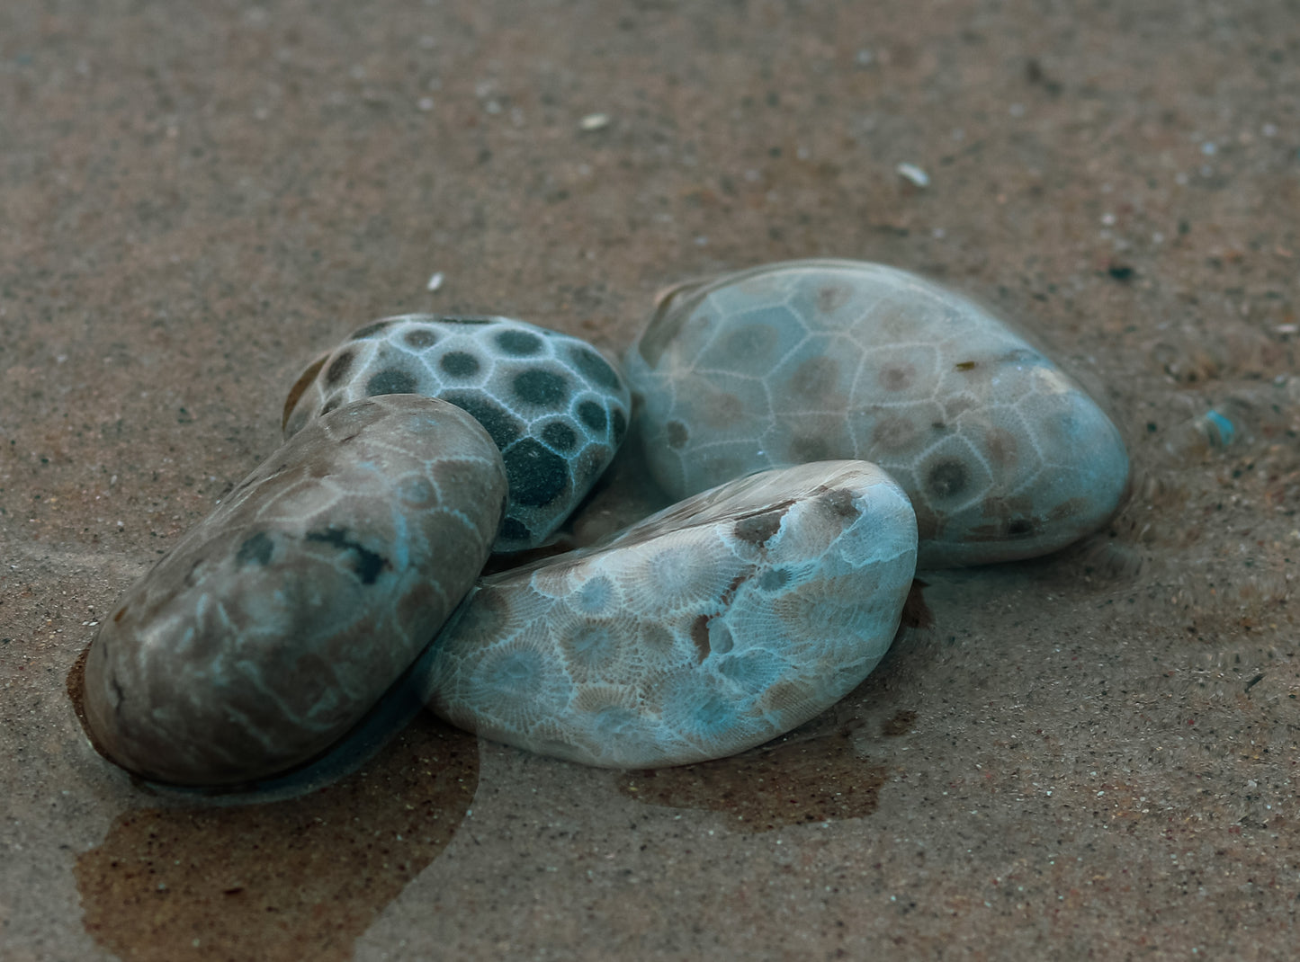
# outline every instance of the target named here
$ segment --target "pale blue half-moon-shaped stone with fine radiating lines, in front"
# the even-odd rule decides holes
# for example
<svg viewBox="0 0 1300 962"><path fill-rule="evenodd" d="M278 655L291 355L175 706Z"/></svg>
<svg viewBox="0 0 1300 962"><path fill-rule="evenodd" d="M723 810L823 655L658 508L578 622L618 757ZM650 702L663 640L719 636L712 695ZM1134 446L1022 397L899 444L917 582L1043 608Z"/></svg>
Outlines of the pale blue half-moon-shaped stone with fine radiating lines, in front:
<svg viewBox="0 0 1300 962"><path fill-rule="evenodd" d="M915 566L915 515L875 465L762 472L603 546L481 578L430 650L426 701L586 764L722 758L857 686Z"/></svg>

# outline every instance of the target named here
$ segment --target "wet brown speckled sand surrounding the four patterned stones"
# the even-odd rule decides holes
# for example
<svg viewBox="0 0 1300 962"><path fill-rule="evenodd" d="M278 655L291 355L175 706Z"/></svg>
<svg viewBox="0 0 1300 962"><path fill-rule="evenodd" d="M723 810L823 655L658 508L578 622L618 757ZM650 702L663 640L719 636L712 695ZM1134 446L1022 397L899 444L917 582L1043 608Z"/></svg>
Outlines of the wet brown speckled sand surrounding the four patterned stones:
<svg viewBox="0 0 1300 962"><path fill-rule="evenodd" d="M0 958L1291 957L1297 231L1294 0L0 4ZM619 351L672 282L811 256L1023 325L1122 425L1123 514L927 576L740 759L425 718L237 809L90 749L99 616L352 328Z"/></svg>

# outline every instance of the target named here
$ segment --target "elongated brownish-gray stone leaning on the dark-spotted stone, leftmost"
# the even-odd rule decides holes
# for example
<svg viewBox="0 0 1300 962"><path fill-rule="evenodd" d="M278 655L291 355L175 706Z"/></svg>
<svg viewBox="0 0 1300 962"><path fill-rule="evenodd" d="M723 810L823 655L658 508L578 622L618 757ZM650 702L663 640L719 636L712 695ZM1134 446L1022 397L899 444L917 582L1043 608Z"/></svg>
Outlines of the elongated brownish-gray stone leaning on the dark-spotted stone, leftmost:
<svg viewBox="0 0 1300 962"><path fill-rule="evenodd" d="M220 785L311 759L407 670L472 585L504 510L500 454L458 407L394 395L313 420L100 625L100 748Z"/></svg>

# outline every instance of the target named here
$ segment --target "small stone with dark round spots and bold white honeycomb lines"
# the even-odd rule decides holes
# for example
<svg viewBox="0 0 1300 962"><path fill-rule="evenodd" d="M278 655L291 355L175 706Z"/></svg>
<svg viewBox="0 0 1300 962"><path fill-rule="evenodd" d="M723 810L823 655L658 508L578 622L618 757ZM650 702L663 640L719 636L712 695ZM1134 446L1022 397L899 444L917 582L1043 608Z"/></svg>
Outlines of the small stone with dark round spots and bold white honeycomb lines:
<svg viewBox="0 0 1300 962"><path fill-rule="evenodd" d="M568 517L623 442L630 408L618 368L580 338L508 317L404 315L361 328L303 372L285 436L381 394L442 398L488 429L510 478L497 551L536 547Z"/></svg>

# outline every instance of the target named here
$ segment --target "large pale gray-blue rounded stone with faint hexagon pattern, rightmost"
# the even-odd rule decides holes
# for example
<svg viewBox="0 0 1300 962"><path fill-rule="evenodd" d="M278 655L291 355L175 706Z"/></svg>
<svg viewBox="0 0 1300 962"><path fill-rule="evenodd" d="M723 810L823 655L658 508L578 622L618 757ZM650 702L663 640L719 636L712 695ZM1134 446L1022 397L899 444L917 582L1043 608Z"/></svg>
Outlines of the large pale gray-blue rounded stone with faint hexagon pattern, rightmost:
<svg viewBox="0 0 1300 962"><path fill-rule="evenodd" d="M879 264L790 261L679 287L625 370L672 497L862 458L911 498L923 567L1063 547L1105 524L1127 484L1119 433L1056 364L970 300Z"/></svg>

